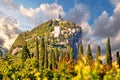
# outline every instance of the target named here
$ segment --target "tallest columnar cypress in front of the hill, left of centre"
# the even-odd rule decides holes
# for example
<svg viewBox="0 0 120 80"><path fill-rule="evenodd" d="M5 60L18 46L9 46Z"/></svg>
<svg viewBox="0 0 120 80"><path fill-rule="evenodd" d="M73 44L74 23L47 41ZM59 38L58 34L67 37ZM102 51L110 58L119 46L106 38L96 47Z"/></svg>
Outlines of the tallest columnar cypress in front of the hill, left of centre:
<svg viewBox="0 0 120 80"><path fill-rule="evenodd" d="M42 69L44 66L44 56L45 56L45 43L44 38L40 39L40 68Z"/></svg>

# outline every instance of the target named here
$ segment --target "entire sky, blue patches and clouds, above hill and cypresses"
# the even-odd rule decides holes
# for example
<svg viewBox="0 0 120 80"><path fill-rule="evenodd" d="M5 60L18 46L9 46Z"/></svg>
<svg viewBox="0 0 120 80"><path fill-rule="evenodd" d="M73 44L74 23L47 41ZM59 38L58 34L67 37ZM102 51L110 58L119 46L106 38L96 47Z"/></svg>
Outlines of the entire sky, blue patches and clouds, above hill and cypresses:
<svg viewBox="0 0 120 80"><path fill-rule="evenodd" d="M83 30L83 45L105 51L110 37L112 50L120 50L120 0L0 0L0 45L10 48L19 33L58 14Z"/></svg>

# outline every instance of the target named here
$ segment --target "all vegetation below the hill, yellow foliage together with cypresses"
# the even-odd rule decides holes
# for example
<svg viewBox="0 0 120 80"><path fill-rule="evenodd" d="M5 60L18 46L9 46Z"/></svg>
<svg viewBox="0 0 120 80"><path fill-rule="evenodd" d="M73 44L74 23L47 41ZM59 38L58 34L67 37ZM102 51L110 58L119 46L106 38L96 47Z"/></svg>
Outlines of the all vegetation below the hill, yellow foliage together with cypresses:
<svg viewBox="0 0 120 80"><path fill-rule="evenodd" d="M104 63L100 46L97 48L96 61L90 45L86 55L80 45L78 60L74 60L69 46L64 52L57 48L51 48L48 52L44 39L41 39L40 54L39 51L37 53L36 57L31 56L25 44L21 54L0 57L0 80L120 80L119 52L116 53L116 61L112 62L109 39Z"/></svg>

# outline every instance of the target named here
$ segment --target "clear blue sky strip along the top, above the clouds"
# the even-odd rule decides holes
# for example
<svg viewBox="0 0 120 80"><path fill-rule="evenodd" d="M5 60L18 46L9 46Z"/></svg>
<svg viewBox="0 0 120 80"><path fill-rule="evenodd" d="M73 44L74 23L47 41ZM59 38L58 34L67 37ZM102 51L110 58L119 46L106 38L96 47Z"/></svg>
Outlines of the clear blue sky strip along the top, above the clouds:
<svg viewBox="0 0 120 80"><path fill-rule="evenodd" d="M104 10L106 10L109 13L109 16L111 16L114 9L113 5L110 3L110 0L13 0L14 3L22 4L27 8L37 8L41 4L52 4L56 1L58 5L63 7L65 13L68 13L69 10L74 8L76 4L86 5L90 11L90 24L93 24L94 19L96 19Z"/></svg>

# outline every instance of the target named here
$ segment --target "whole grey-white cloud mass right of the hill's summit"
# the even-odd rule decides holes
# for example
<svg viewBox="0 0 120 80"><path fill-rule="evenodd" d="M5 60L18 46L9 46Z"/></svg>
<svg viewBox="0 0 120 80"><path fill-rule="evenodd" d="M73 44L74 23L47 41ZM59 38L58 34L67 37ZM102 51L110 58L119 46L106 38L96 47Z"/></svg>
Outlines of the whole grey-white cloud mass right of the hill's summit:
<svg viewBox="0 0 120 80"><path fill-rule="evenodd" d="M113 2L114 1L114 2ZM79 24L83 29L84 49L87 44L91 45L92 52L96 52L97 45L101 46L102 53L105 53L107 37L111 38L112 50L118 50L120 45L120 1L111 0L114 3L113 15L109 16L106 11L95 19L93 25L88 23L89 10L85 5L77 4L68 13L67 19ZM93 26L93 28L91 27Z"/></svg>

